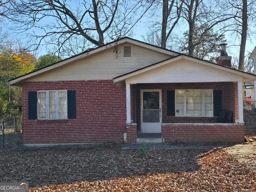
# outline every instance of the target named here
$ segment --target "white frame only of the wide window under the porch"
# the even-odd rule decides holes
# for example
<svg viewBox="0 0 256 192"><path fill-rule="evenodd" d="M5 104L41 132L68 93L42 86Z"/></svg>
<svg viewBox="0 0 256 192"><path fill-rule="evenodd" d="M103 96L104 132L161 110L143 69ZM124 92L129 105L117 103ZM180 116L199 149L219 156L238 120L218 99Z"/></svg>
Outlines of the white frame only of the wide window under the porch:
<svg viewBox="0 0 256 192"><path fill-rule="evenodd" d="M183 115L177 115L176 109L177 109L177 91L184 91L184 95L183 95L183 110L184 113ZM202 116L187 116L187 101L186 101L186 97L187 97L187 91L202 91ZM204 92L205 91L212 91L212 115L205 115L204 114ZM213 117L213 90L212 89L197 89L197 90L192 90L192 89L177 89L175 90L175 117Z"/></svg>

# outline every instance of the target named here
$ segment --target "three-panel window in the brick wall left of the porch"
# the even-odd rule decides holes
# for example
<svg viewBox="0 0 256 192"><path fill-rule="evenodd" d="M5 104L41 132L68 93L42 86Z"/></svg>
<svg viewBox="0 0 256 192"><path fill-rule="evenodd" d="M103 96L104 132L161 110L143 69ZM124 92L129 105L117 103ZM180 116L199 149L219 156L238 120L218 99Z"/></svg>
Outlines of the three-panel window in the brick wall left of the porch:
<svg viewBox="0 0 256 192"><path fill-rule="evenodd" d="M38 91L38 119L66 119L67 91Z"/></svg>

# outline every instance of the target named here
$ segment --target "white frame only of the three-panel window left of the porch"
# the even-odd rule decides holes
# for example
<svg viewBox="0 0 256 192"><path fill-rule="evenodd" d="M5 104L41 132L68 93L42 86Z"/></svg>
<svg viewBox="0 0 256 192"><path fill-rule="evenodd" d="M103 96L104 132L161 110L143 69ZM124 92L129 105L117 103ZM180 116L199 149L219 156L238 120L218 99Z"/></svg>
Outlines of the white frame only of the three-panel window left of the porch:
<svg viewBox="0 0 256 192"><path fill-rule="evenodd" d="M67 103L67 114L66 118L59 118L59 91L65 91L66 92L66 98L68 102L68 92L67 90L47 90L47 91L37 91L37 119L39 120L55 120L55 119L68 119L68 103ZM38 118L39 117L39 92L46 92L46 118ZM55 92L56 93L56 118L49 118L49 92Z"/></svg>

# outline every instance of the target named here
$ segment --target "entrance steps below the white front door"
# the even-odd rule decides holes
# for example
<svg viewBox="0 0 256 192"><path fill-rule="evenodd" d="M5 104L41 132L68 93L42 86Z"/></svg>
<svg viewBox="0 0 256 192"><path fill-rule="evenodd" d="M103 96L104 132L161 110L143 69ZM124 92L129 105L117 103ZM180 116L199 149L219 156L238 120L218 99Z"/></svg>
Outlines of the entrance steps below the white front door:
<svg viewBox="0 0 256 192"><path fill-rule="evenodd" d="M137 143L162 143L161 133L137 132Z"/></svg>

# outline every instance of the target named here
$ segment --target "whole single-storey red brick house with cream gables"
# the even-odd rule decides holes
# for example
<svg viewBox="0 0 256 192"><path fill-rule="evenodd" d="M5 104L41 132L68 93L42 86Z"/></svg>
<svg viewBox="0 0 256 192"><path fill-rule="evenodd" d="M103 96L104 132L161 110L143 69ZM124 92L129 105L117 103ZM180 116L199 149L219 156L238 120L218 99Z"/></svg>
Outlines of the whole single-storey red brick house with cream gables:
<svg viewBox="0 0 256 192"><path fill-rule="evenodd" d="M241 142L256 76L231 68L225 45L217 63L125 37L14 78L23 143ZM209 123L222 109L230 122Z"/></svg>

